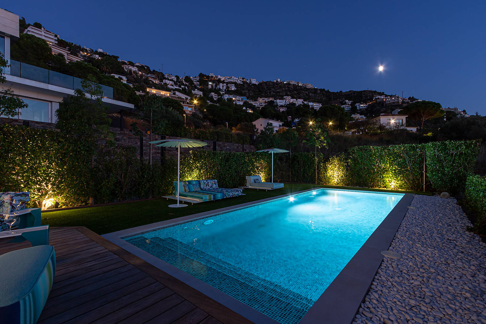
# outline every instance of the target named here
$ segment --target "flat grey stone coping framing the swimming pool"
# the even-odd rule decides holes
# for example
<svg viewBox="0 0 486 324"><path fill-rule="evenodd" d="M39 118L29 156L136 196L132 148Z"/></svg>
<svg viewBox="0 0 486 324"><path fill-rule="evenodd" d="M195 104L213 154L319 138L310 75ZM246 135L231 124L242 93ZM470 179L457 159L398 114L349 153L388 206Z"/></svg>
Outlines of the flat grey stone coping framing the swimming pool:
<svg viewBox="0 0 486 324"><path fill-rule="evenodd" d="M107 240L120 246L124 250L140 257L146 262L154 265L158 269L168 273L169 275L181 280L192 288L202 292L209 298L223 306L235 311L246 319L256 324L279 324L277 321L260 313L258 310L243 304L239 300L227 295L226 293L204 283L203 281L194 278L190 274L174 267L173 265L162 261L156 256L143 251L142 249L121 239L123 236L130 234L137 234L148 230L177 224L180 222L203 218L214 214L220 214L226 211L241 209L244 207L257 205L262 202L293 196L296 194L309 192L317 189L327 190L341 190L341 191L366 191L366 190L348 190L348 189L334 189L334 188L312 188L298 192L288 193L277 197L260 199L251 201L236 206L229 206L204 213L183 216L179 218L164 220L152 224L142 225L118 232L108 233L102 235ZM370 193L386 193L377 191L368 191ZM343 270L332 281L330 286L317 299L315 304L300 320L299 324L350 324L354 316L358 312L361 302L364 300L373 278L381 265L383 250L388 250L388 247L395 236L400 223L407 212L407 206L410 205L414 194L404 194L397 205L385 217L378 228L366 240L364 245L351 258ZM184 297L184 296L182 296Z"/></svg>

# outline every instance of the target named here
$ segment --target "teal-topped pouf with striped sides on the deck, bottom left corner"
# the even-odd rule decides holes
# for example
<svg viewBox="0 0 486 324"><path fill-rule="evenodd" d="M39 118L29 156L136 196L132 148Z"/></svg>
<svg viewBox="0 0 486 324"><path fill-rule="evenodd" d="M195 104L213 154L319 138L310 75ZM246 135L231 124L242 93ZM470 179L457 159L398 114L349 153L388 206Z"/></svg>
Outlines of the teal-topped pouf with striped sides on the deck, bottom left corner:
<svg viewBox="0 0 486 324"><path fill-rule="evenodd" d="M0 273L13 275L2 282L0 317L8 319L9 324L35 324L51 292L55 271L56 258L50 245L1 255Z"/></svg>

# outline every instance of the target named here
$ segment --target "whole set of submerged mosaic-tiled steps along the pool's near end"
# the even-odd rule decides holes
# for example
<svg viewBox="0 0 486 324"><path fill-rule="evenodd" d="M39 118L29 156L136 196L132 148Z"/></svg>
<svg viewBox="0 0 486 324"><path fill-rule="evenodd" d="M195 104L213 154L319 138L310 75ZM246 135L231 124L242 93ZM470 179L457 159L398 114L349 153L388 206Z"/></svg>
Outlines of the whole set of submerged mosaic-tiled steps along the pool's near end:
<svg viewBox="0 0 486 324"><path fill-rule="evenodd" d="M238 272L248 272L233 265L229 267L230 264L227 262L173 238L160 239L152 237L148 240L144 237L137 237L130 239L129 242L238 299L242 303L257 309L279 323L298 323L313 304L313 302L310 305L302 302L302 300L306 300L304 296L298 299L293 296L295 293L293 295L285 294L276 290L275 287L270 287L271 285L265 285L265 282L270 282L254 274L251 274L251 276L238 275ZM196 259L190 256L194 253L201 253L200 255L203 256L199 256ZM218 265L218 262L225 264L225 266ZM273 284L273 286L278 285Z"/></svg>

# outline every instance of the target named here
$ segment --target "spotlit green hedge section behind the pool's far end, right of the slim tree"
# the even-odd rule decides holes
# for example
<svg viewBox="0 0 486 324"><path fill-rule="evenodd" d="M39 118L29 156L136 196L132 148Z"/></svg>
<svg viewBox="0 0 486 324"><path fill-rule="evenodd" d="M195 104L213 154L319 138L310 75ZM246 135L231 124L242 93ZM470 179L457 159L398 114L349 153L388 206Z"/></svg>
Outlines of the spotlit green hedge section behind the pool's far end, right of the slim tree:
<svg viewBox="0 0 486 324"><path fill-rule="evenodd" d="M464 191L479 154L477 141L357 146L324 163L321 184L420 190L424 150L429 190Z"/></svg>

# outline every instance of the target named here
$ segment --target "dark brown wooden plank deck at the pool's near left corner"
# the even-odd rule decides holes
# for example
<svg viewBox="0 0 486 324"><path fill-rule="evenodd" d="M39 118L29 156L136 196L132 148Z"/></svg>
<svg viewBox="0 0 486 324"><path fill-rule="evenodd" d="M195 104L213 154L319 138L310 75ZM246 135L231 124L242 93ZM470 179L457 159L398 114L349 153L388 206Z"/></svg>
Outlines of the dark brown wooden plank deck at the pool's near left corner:
<svg viewBox="0 0 486 324"><path fill-rule="evenodd" d="M0 254L31 246L9 241ZM85 227L52 228L50 244L57 268L38 324L251 323Z"/></svg>

